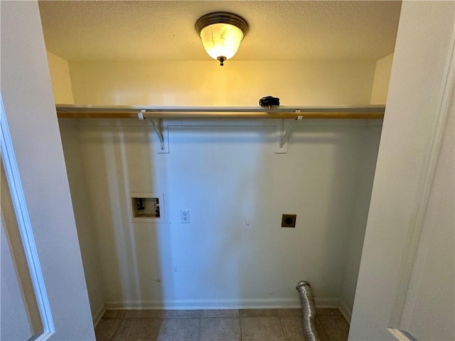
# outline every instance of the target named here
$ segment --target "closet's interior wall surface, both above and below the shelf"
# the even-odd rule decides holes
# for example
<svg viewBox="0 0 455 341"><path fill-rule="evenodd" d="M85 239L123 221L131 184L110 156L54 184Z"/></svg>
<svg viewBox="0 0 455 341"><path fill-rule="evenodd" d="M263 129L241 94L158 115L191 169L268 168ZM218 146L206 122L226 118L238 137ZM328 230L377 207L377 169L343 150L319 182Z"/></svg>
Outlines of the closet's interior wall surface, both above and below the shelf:
<svg viewBox="0 0 455 341"><path fill-rule="evenodd" d="M98 105L368 104L375 78L365 60L68 66L75 103ZM381 120L299 122L284 154L276 120L166 120L169 153L148 121L59 121L94 320L105 307L298 307L302 278L350 317ZM165 222L132 222L137 192L164 194Z"/></svg>

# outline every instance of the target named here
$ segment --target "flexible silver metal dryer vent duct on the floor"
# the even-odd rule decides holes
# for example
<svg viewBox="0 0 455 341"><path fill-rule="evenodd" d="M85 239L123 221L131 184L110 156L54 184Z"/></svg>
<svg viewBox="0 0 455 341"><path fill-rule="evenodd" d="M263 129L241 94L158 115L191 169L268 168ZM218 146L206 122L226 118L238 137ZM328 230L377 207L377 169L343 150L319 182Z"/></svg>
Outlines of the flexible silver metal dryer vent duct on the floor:
<svg viewBox="0 0 455 341"><path fill-rule="evenodd" d="M319 341L318 329L316 328L316 305L314 304L314 296L311 293L310 283L307 281L299 281L296 286L299 291L301 308L304 310L302 318L304 337L306 341Z"/></svg>

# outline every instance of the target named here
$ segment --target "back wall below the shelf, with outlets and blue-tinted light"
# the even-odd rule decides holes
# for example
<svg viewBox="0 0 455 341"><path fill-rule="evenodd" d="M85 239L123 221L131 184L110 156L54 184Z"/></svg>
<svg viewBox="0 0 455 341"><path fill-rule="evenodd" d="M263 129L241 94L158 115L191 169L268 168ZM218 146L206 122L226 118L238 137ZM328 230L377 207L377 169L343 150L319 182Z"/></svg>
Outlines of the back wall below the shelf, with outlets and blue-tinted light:
<svg viewBox="0 0 455 341"><path fill-rule="evenodd" d="M274 126L205 121L171 126L170 153L159 154L149 124L98 122L83 122L77 146L107 306L298 307L300 279L319 305L338 304L351 231L365 226L353 219L358 193L371 188L359 171L380 127L303 122L289 153L274 154ZM132 223L131 192L164 193L166 222ZM191 224L180 223L182 208ZM284 213L297 215L296 229L280 227Z"/></svg>

